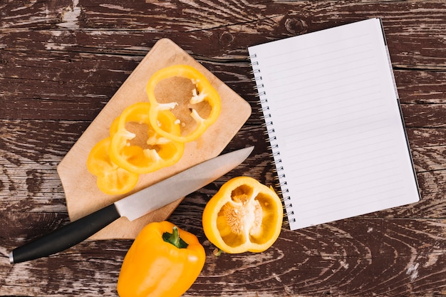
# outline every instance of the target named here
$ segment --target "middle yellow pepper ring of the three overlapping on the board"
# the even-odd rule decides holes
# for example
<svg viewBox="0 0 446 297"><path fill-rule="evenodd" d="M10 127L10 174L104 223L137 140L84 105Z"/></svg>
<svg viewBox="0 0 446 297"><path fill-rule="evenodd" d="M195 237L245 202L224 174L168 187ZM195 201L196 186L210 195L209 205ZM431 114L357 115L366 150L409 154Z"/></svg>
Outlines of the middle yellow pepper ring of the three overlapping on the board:
<svg viewBox="0 0 446 297"><path fill-rule="evenodd" d="M118 127L112 125L113 134L110 143L110 158L116 165L139 174L153 172L162 167L174 165L185 150L184 143L175 142L158 135L150 124L150 103L135 103L123 110ZM175 116L169 110L158 115L157 125L180 135L180 128L175 124ZM131 132L130 125L138 131Z"/></svg>

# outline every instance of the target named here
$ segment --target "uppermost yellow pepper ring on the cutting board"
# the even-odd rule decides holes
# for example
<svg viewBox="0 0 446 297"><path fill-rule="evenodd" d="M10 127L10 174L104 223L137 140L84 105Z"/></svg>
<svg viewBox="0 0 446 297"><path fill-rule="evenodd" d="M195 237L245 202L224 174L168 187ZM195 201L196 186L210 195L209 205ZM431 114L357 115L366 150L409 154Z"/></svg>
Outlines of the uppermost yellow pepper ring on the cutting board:
<svg viewBox="0 0 446 297"><path fill-rule="evenodd" d="M160 112L162 112L162 110L172 110L178 103L158 102L155 96L155 87L162 80L174 77L188 78L195 85L195 88L192 89L191 99L188 102L190 106L198 106L200 103L207 103L210 106L207 118L202 118L202 115L199 115L196 108L190 108L190 116L195 121L195 127L182 127L181 135L172 133L165 130L164 127L157 125ZM190 142L196 140L205 130L207 130L209 125L215 123L221 110L221 102L217 90L212 87L212 84L209 83L209 80L207 80L202 73L188 65L168 66L154 73L147 83L147 96L151 104L150 123L152 123L155 131L158 134L177 142Z"/></svg>

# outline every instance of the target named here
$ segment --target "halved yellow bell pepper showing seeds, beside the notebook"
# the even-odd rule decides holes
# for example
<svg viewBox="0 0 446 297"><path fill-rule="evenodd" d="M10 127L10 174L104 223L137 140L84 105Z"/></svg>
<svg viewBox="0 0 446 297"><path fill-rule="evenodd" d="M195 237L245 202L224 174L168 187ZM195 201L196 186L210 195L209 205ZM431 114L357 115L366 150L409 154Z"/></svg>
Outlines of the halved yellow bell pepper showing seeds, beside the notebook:
<svg viewBox="0 0 446 297"><path fill-rule="evenodd" d="M235 177L206 204L202 224L212 244L238 254L269 249L279 237L283 217L281 199L272 187L251 177Z"/></svg>

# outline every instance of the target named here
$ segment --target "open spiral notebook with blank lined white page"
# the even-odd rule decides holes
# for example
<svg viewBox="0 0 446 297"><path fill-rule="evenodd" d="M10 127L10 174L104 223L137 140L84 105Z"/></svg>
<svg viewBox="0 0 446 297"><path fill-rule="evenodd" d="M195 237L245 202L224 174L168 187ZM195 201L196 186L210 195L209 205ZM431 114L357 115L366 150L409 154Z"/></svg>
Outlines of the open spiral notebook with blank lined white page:
<svg viewBox="0 0 446 297"><path fill-rule="evenodd" d="M420 200L380 19L249 56L291 229Z"/></svg>

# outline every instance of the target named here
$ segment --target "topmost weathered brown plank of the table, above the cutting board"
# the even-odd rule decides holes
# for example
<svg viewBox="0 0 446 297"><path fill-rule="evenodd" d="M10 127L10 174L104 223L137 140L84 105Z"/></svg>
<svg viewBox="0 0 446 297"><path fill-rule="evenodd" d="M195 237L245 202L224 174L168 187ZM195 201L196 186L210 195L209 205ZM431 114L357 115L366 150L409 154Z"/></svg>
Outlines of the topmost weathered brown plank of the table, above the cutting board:
<svg viewBox="0 0 446 297"><path fill-rule="evenodd" d="M227 9L228 6L232 9ZM403 68L445 66L442 37L446 8L441 0L393 1L393 4L130 1L120 5L113 0L65 0L52 7L45 1L28 6L9 1L4 10L10 16L0 21L6 35L0 48L14 47L21 38L26 39L26 34L20 38L14 36L22 32L19 28L33 28L50 29L41 38L29 39L36 50L140 53L147 51L157 39L169 36L174 41L182 41L186 51L207 58L245 56L247 46L252 44L378 16L383 18L396 65ZM204 46L197 46L199 43ZM18 47L22 51L28 48Z"/></svg>

